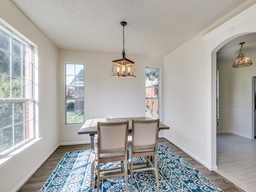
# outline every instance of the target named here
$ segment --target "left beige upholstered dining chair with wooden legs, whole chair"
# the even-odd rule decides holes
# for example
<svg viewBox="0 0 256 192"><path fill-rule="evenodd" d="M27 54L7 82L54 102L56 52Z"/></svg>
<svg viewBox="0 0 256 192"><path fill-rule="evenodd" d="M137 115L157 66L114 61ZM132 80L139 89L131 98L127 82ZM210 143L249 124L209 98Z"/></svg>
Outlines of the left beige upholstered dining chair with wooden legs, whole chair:
<svg viewBox="0 0 256 192"><path fill-rule="evenodd" d="M129 122L98 122L98 168L97 192L100 180L125 176L126 191L128 192L128 126ZM121 166L103 168L100 164L120 161Z"/></svg>

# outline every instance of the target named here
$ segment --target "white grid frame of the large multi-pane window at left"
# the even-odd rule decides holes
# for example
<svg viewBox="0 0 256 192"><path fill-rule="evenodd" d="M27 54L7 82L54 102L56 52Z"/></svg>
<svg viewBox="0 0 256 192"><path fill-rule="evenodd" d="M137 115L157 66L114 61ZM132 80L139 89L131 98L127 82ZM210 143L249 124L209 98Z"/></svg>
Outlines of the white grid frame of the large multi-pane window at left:
<svg viewBox="0 0 256 192"><path fill-rule="evenodd" d="M7 98L0 98L0 104L11 104L12 105L12 113L11 113L11 119L12 123L8 124L7 126L3 126L0 128L0 130L5 130L10 128L12 130L12 136L11 142L12 146L10 148L7 148L0 152L0 158L3 156L6 156L7 154L11 154L15 150L19 149L20 147L28 144L31 140L34 140L36 137L36 124L35 124L35 63L34 63L34 54L35 54L35 49L34 49L34 44L30 42L26 37L22 36L19 34L19 32L14 32L15 30L12 30L12 27L8 27L8 24L3 24L2 21L0 21L0 29L3 32L6 32L8 35L10 35L10 45L9 45L9 50L5 50L4 48L0 48L0 51L10 55L10 61L9 61L9 74L7 73L0 73L2 77L7 77L9 78L10 84L9 84L9 89L10 89L10 96ZM14 51L14 43L13 39L16 39L20 41L20 55L15 54ZM25 47L24 47L25 46ZM24 52L26 49L26 46L29 46L29 58L27 58L27 52ZM24 49L25 48L25 49ZM13 71L13 58L18 59L20 61L20 76L17 74L14 74ZM28 69L27 69L28 65ZM25 68L24 68L25 67ZM28 70L28 72L26 71ZM25 72L25 74L23 74ZM28 73L28 74L27 74ZM16 78L20 80L20 97L13 97L12 95L12 90L14 88L14 85L12 84L13 78ZM25 83L25 85L24 85ZM29 84L26 86L26 84ZM25 91L29 88L29 92ZM25 91L25 92L24 92ZM26 96L28 94L28 96ZM18 122L15 120L15 114L17 110L15 110L15 105L18 103L22 103L22 119L19 119ZM28 105L29 104L29 108ZM27 110L28 108L28 110ZM20 108L21 109L21 108ZM17 118L17 117L16 117ZM18 140L18 143L16 143L16 126L22 125L22 130L23 130L23 138L22 140ZM28 138L26 138L28 136Z"/></svg>

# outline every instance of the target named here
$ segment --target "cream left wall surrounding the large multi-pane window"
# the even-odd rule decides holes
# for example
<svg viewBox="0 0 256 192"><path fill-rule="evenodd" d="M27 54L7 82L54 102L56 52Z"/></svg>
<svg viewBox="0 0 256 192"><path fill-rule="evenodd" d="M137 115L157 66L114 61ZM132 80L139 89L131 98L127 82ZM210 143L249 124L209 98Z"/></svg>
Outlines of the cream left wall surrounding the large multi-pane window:
<svg viewBox="0 0 256 192"><path fill-rule="evenodd" d="M10 0L0 1L0 18L38 46L36 124L37 137L41 139L0 165L0 191L12 192L26 182L59 144L58 48Z"/></svg>

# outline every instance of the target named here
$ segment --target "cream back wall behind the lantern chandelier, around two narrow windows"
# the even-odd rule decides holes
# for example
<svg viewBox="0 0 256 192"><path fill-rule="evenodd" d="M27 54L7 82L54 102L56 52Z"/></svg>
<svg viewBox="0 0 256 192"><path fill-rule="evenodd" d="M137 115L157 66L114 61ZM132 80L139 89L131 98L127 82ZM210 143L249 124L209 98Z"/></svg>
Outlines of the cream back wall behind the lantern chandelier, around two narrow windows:
<svg viewBox="0 0 256 192"><path fill-rule="evenodd" d="M64 127L65 124L65 63L84 64L84 116L92 118L116 118L145 116L145 68L160 68L161 117L164 120L164 59L163 57L130 55L134 61L136 78L119 79L110 76L112 61L121 54L60 50L59 58L59 105L60 143L89 143L89 135L78 135L80 127ZM163 136L160 131L159 136Z"/></svg>

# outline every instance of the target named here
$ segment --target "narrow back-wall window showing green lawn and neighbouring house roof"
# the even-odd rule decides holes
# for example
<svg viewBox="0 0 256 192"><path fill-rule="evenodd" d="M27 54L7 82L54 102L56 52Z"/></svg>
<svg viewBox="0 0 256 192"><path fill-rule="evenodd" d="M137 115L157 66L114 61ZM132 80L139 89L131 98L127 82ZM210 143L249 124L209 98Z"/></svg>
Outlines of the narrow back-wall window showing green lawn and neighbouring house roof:
<svg viewBox="0 0 256 192"><path fill-rule="evenodd" d="M66 64L66 124L84 123L84 65Z"/></svg>

